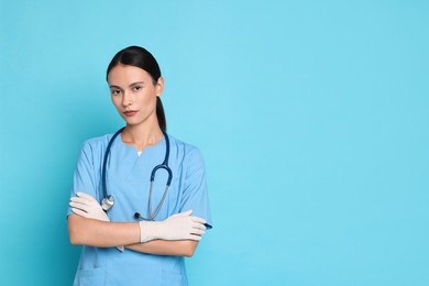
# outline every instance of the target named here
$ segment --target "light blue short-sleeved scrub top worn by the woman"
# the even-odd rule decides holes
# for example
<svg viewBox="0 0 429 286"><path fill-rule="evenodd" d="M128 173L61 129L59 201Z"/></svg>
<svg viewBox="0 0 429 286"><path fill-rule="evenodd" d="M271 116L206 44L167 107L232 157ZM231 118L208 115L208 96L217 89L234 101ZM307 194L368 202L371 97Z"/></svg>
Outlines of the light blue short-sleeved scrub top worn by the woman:
<svg viewBox="0 0 429 286"><path fill-rule="evenodd" d="M112 134L86 141L76 165L70 197L86 193L102 199L101 168L106 147ZM193 216L207 220L211 228L206 170L199 150L168 135L168 166L173 172L167 197L155 220L193 210ZM135 222L135 212L148 216L148 188L152 169L165 158L165 138L147 146L139 156L135 146L127 145L117 136L107 164L108 194L114 206L108 216L116 222ZM160 169L152 190L152 210L165 190L167 172ZM67 215L72 215L70 207ZM74 285L187 285L185 261L182 256L163 256L116 248L84 245Z"/></svg>

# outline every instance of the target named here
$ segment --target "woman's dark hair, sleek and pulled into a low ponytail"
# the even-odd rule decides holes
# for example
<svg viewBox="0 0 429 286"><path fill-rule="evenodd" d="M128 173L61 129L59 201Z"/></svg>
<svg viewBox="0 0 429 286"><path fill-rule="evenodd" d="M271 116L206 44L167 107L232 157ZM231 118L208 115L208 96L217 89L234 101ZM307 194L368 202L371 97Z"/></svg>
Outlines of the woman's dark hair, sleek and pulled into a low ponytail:
<svg viewBox="0 0 429 286"><path fill-rule="evenodd" d="M146 70L151 75L154 85L156 85L161 77L161 69L155 57L147 50L140 46L129 46L119 51L108 66L106 78L108 78L110 70L119 64L135 66ZM166 131L167 122L160 97L156 98L156 117L158 119L160 128Z"/></svg>

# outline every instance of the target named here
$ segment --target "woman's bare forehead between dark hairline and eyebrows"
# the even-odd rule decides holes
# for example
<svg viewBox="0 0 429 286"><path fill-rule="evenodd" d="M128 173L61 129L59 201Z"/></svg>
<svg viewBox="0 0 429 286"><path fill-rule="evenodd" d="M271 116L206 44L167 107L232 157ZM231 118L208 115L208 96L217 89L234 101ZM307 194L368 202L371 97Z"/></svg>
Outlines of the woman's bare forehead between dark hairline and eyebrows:
<svg viewBox="0 0 429 286"><path fill-rule="evenodd" d="M136 81L147 82L152 80L151 75L135 66L127 66L127 65L117 65L112 69L110 69L108 75L109 85L129 85Z"/></svg>

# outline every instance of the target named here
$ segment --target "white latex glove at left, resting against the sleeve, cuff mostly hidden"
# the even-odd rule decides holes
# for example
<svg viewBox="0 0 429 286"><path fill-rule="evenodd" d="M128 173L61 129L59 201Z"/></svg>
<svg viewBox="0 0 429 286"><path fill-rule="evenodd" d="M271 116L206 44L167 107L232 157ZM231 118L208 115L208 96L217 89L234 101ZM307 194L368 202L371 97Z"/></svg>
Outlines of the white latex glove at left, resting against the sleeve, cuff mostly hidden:
<svg viewBox="0 0 429 286"><path fill-rule="evenodd" d="M77 197L70 199L73 212L87 219L110 221L109 217L95 198L84 193L77 193L76 195ZM120 252L123 252L123 246L117 246L117 249Z"/></svg>

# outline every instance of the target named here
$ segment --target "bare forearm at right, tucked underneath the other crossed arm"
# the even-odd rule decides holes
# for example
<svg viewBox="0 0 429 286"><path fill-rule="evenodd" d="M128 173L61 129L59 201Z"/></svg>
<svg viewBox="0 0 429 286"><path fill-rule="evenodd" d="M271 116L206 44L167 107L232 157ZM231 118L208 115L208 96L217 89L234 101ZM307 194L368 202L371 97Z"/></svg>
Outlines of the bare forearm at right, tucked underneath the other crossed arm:
<svg viewBox="0 0 429 286"><path fill-rule="evenodd" d="M125 248L148 254L190 257L194 255L197 245L198 241L193 240L153 240L145 243L125 245Z"/></svg>

